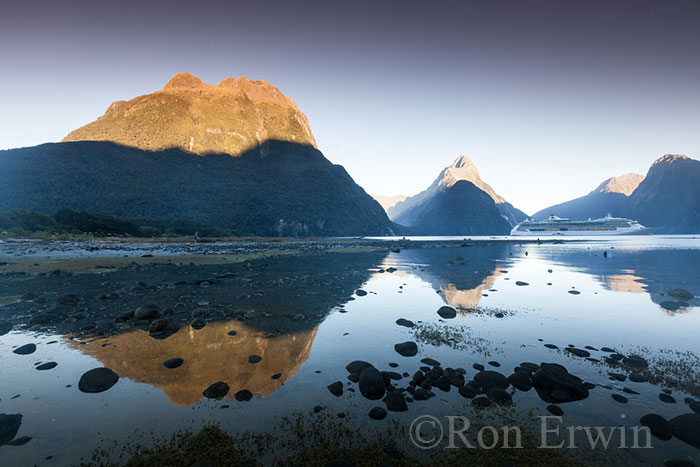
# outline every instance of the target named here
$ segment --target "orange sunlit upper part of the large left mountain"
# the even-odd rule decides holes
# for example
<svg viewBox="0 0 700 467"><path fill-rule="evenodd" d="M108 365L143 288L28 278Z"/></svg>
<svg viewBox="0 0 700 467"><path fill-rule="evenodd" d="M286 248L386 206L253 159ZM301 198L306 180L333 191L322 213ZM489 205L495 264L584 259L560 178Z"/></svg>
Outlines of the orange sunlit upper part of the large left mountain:
<svg viewBox="0 0 700 467"><path fill-rule="evenodd" d="M306 116L267 81L240 77L210 85L178 73L160 91L114 102L63 142L111 141L152 151L238 155L254 147L264 152L268 140L316 147Z"/></svg>

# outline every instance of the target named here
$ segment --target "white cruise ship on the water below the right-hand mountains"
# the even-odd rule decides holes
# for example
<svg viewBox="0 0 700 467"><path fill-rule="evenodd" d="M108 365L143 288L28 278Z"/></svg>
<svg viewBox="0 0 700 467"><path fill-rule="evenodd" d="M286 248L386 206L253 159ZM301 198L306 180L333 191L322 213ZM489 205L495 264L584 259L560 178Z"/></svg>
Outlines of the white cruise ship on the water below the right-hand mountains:
<svg viewBox="0 0 700 467"><path fill-rule="evenodd" d="M608 214L600 219L572 221L557 216L549 216L546 221L525 220L513 227L511 235L640 235L649 234L655 229L644 227L637 221Z"/></svg>

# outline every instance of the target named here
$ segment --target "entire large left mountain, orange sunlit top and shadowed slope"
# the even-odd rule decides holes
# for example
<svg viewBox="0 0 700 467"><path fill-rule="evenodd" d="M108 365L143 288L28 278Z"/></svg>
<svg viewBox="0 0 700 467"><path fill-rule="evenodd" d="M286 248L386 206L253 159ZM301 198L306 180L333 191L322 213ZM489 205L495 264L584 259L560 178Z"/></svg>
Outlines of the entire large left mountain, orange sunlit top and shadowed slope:
<svg viewBox="0 0 700 467"><path fill-rule="evenodd" d="M112 104L64 142L0 151L0 212L61 209L257 235L395 233L277 88L186 73Z"/></svg>

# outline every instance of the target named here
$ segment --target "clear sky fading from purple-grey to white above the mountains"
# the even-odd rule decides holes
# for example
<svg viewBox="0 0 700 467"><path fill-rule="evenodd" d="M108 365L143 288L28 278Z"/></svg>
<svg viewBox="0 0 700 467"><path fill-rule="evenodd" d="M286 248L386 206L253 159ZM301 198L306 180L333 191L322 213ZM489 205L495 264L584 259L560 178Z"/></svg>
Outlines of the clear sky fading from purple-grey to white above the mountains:
<svg viewBox="0 0 700 467"><path fill-rule="evenodd" d="M59 141L177 72L265 79L372 194L460 154L531 214L700 158L700 1L32 1L0 10L0 148Z"/></svg>

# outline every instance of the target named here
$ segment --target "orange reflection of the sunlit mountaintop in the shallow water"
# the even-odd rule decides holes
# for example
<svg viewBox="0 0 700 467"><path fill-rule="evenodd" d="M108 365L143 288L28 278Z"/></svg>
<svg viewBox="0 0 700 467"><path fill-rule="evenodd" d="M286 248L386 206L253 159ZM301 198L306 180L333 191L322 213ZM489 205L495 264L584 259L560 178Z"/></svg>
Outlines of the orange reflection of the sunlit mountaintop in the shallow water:
<svg viewBox="0 0 700 467"><path fill-rule="evenodd" d="M294 334L265 337L242 322L209 323L203 329L180 329L162 340L145 331L99 339L87 345L70 340L68 345L98 359L121 378L157 387L179 406L199 401L210 384L224 381L230 387L227 398L248 389L256 397L265 397L289 380L309 357L316 329ZM228 332L236 330L235 336ZM105 347L102 344L109 343ZM116 347L115 347L116 346ZM249 355L262 361L248 363ZM168 369L163 362L184 359L182 366ZM279 379L272 379L282 373Z"/></svg>

